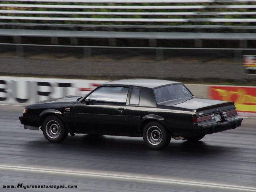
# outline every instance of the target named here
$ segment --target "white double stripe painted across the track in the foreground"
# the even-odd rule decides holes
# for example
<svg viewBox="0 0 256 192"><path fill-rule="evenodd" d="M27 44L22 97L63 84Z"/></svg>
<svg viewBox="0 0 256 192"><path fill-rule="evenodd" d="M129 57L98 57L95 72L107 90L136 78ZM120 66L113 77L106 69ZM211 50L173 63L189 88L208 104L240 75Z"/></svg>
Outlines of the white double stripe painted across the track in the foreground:
<svg viewBox="0 0 256 192"><path fill-rule="evenodd" d="M112 179L122 179L122 180L158 182L158 183L166 183L166 184L179 184L179 185L187 185L187 186L198 186L198 187L209 187L209 188L256 192L256 188L254 187L217 184L217 183L210 183L210 182L196 182L196 181L189 181L189 180L153 178L153 177L147 177L147 176L132 176L132 175L122 175L122 174L110 174L110 173L86 172L86 171L82 172L82 171L72 171L72 170L36 168L36 167L26 167L26 166L9 166L9 165L0 165L0 169L53 173L53 174L62 174L62 175L66 174L66 175L73 175L73 176L90 176L90 177L97 177L97 178L112 178Z"/></svg>

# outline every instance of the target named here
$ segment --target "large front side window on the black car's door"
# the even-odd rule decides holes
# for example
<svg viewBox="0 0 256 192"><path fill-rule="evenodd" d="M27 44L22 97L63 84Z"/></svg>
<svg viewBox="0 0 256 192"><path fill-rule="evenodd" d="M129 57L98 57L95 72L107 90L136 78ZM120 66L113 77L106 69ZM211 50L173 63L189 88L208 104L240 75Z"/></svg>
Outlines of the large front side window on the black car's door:
<svg viewBox="0 0 256 192"><path fill-rule="evenodd" d="M100 87L92 94L90 94L87 99L96 100L96 102L122 102L126 103L128 95L128 87L114 87L106 86Z"/></svg>

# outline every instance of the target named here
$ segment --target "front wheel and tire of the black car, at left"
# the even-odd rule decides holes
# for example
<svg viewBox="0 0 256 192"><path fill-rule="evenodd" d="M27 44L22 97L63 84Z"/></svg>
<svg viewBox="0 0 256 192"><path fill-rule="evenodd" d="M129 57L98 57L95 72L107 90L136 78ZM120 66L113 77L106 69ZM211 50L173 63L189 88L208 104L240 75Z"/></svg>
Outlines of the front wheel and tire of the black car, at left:
<svg viewBox="0 0 256 192"><path fill-rule="evenodd" d="M60 118L47 117L42 126L44 137L50 142L62 142L68 136L68 131Z"/></svg>

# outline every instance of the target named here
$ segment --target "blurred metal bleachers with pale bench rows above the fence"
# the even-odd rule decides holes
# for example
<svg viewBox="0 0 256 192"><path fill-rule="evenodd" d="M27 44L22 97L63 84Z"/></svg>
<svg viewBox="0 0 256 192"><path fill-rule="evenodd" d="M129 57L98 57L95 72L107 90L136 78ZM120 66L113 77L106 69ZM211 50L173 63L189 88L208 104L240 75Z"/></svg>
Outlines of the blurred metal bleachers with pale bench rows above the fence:
<svg viewBox="0 0 256 192"><path fill-rule="evenodd" d="M228 40L229 48L255 47L256 0L1 2L0 36L12 36L14 43L30 44L26 37L44 37L51 39L50 44L70 38L70 44L82 45L78 39L107 38L111 40L104 46L120 46L116 39L136 39L142 46L179 47L175 40L183 40L188 47L200 48L220 47L219 42ZM163 40L168 43L162 44Z"/></svg>

